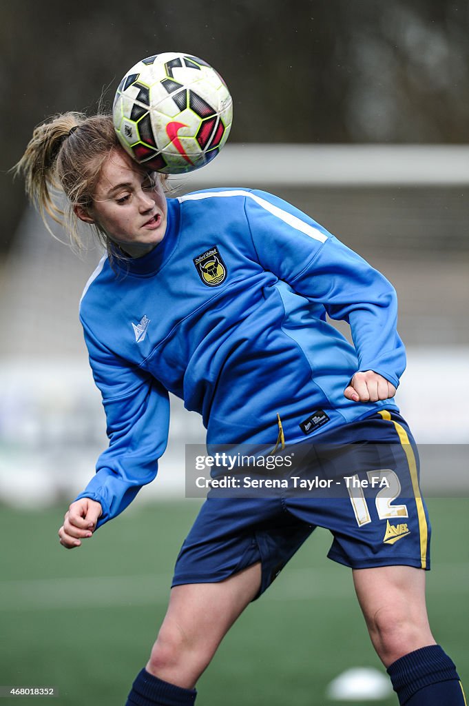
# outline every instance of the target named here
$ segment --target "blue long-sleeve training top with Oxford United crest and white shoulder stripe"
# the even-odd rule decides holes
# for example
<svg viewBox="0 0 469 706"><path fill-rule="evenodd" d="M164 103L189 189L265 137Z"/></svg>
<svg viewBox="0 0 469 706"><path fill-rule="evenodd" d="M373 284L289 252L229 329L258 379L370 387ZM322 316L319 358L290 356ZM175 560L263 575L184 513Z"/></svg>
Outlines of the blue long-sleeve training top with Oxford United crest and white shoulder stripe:
<svg viewBox="0 0 469 706"><path fill-rule="evenodd" d="M109 448L78 498L98 526L157 474L168 391L202 414L207 443L298 443L393 400L343 396L356 371L393 385L406 364L396 294L363 258L269 193L210 189L168 198L164 239L87 282L80 319L102 392ZM351 345L332 319L351 325ZM76 498L76 499L78 499Z"/></svg>

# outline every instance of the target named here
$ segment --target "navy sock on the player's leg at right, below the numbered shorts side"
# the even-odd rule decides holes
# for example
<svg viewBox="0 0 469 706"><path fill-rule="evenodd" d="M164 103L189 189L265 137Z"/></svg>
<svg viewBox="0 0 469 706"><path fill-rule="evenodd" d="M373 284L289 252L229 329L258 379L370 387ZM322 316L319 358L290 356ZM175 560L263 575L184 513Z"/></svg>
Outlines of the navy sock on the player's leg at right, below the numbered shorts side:
<svg viewBox="0 0 469 706"><path fill-rule="evenodd" d="M405 654L387 672L401 706L465 706L456 666L439 645Z"/></svg>

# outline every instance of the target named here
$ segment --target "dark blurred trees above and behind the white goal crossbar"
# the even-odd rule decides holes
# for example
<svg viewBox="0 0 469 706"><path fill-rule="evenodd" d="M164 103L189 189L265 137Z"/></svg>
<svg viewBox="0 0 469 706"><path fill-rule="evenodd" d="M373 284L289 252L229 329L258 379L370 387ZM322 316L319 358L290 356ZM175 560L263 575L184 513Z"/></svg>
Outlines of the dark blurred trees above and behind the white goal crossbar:
<svg viewBox="0 0 469 706"><path fill-rule="evenodd" d="M0 249L24 207L6 170L32 128L94 112L100 97L109 107L123 73L157 52L217 67L235 103L232 142L466 142L468 15L467 0L5 3Z"/></svg>

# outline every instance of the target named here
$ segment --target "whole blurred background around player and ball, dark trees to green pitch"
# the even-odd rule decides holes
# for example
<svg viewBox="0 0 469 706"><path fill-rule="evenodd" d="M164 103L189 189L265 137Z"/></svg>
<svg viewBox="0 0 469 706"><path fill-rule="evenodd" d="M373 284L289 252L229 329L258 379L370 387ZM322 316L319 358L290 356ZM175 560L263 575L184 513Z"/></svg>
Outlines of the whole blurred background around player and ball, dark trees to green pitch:
<svg viewBox="0 0 469 706"><path fill-rule="evenodd" d="M64 15L44 0L2 10L0 83L20 108L0 116L0 686L55 685L51 703L123 702L197 513L183 497L184 444L203 429L172 400L154 484L80 551L59 547L63 512L106 443L78 323L100 253L90 244L78 258L54 241L6 170L49 114L94 106L108 83L109 102L137 59L180 48L219 69L236 110L230 144L174 179L176 193L273 191L398 291L408 348L398 402L420 443L434 526L430 615L468 688L468 5L255 5L139 0L129 13L83 0ZM325 561L328 542L317 532L240 618L202 678L202 703L321 706L344 669L380 668L348 572Z"/></svg>

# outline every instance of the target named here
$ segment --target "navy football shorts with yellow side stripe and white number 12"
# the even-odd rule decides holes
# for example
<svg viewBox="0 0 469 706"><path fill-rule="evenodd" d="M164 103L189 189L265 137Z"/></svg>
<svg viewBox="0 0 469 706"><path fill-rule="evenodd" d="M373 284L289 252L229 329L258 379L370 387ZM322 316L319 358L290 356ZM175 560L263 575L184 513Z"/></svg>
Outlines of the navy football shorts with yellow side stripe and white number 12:
<svg viewBox="0 0 469 706"><path fill-rule="evenodd" d="M223 581L262 564L260 595L316 527L327 556L352 568L430 568L430 522L419 489L415 441L396 411L381 410L315 437L296 451L288 489L266 496L209 493L176 560L173 586ZM295 484L322 479L324 488Z"/></svg>

